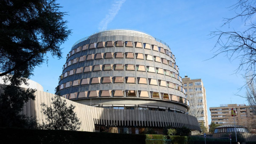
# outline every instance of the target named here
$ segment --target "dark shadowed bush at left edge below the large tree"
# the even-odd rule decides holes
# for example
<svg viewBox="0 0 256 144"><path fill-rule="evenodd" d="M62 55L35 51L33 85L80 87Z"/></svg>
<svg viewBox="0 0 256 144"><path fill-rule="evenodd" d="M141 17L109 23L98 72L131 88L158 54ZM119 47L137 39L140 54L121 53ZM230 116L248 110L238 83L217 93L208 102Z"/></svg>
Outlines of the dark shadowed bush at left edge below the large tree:
<svg viewBox="0 0 256 144"><path fill-rule="evenodd" d="M35 90L21 90L18 86L0 86L0 127L35 129L36 121L21 114L29 99L35 100Z"/></svg>

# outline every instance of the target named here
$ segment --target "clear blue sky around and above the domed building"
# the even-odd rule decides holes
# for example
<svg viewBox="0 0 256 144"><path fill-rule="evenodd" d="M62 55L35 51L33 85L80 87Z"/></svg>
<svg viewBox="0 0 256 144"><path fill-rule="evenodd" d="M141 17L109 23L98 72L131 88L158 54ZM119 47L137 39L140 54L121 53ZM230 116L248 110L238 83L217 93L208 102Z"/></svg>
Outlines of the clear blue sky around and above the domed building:
<svg viewBox="0 0 256 144"><path fill-rule="evenodd" d="M72 29L68 40L61 45L63 58L52 58L34 70L31 80L54 93L62 66L71 46L81 38L102 29L129 28L144 31L167 43L176 57L180 76L202 78L206 89L209 122L209 107L237 103L247 105L245 91L238 89L245 83L241 71L234 74L239 61L228 60L224 54L210 59L216 38L211 31L243 30L244 23L238 19L230 27L222 26L223 18L231 18L234 10L228 8L236 1L57 1L61 11L68 12L65 20ZM210 59L210 60L207 60ZM209 123L210 124L210 123Z"/></svg>

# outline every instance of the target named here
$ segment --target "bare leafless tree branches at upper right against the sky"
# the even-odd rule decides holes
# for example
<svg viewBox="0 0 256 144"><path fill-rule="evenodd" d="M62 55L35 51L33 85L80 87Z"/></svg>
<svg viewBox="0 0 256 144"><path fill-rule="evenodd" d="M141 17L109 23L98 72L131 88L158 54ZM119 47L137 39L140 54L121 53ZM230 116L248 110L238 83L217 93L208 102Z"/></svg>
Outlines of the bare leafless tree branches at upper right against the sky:
<svg viewBox="0 0 256 144"><path fill-rule="evenodd" d="M241 18L245 30L236 31L233 28L231 31L212 31L211 35L218 38L214 46L217 49L214 57L225 53L229 60L238 59L240 63L236 72L245 70L245 76L252 78L249 82L251 83L256 76L256 1L240 0L229 8L236 11L236 15L225 18L223 26L230 26L233 20Z"/></svg>

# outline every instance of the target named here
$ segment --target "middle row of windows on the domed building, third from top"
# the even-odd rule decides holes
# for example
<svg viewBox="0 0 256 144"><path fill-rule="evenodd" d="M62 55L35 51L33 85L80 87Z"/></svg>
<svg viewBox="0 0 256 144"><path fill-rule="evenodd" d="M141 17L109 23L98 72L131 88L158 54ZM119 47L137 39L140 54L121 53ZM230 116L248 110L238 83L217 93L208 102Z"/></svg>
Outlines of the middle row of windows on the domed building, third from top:
<svg viewBox="0 0 256 144"><path fill-rule="evenodd" d="M130 65L130 64L115 64L115 65L111 65L111 64L106 64L106 65L94 65L94 66L86 66L86 67L81 67L81 68L77 68L77 69L71 69L69 71L67 71L66 73L62 74L60 76L61 80L62 78L74 75L74 74L80 74L80 73L89 73L91 71L106 71L106 70L131 70L134 71L135 69L137 71L147 71L148 73L157 73L157 74L162 74L162 75L166 75L166 76L170 76L170 77L174 77L176 79L178 79L180 82L181 81L181 77L178 74L175 74L174 72L170 71L170 70L166 70L166 69L162 69L162 68L155 68L155 67L150 67L150 66L143 66L143 65Z"/></svg>

